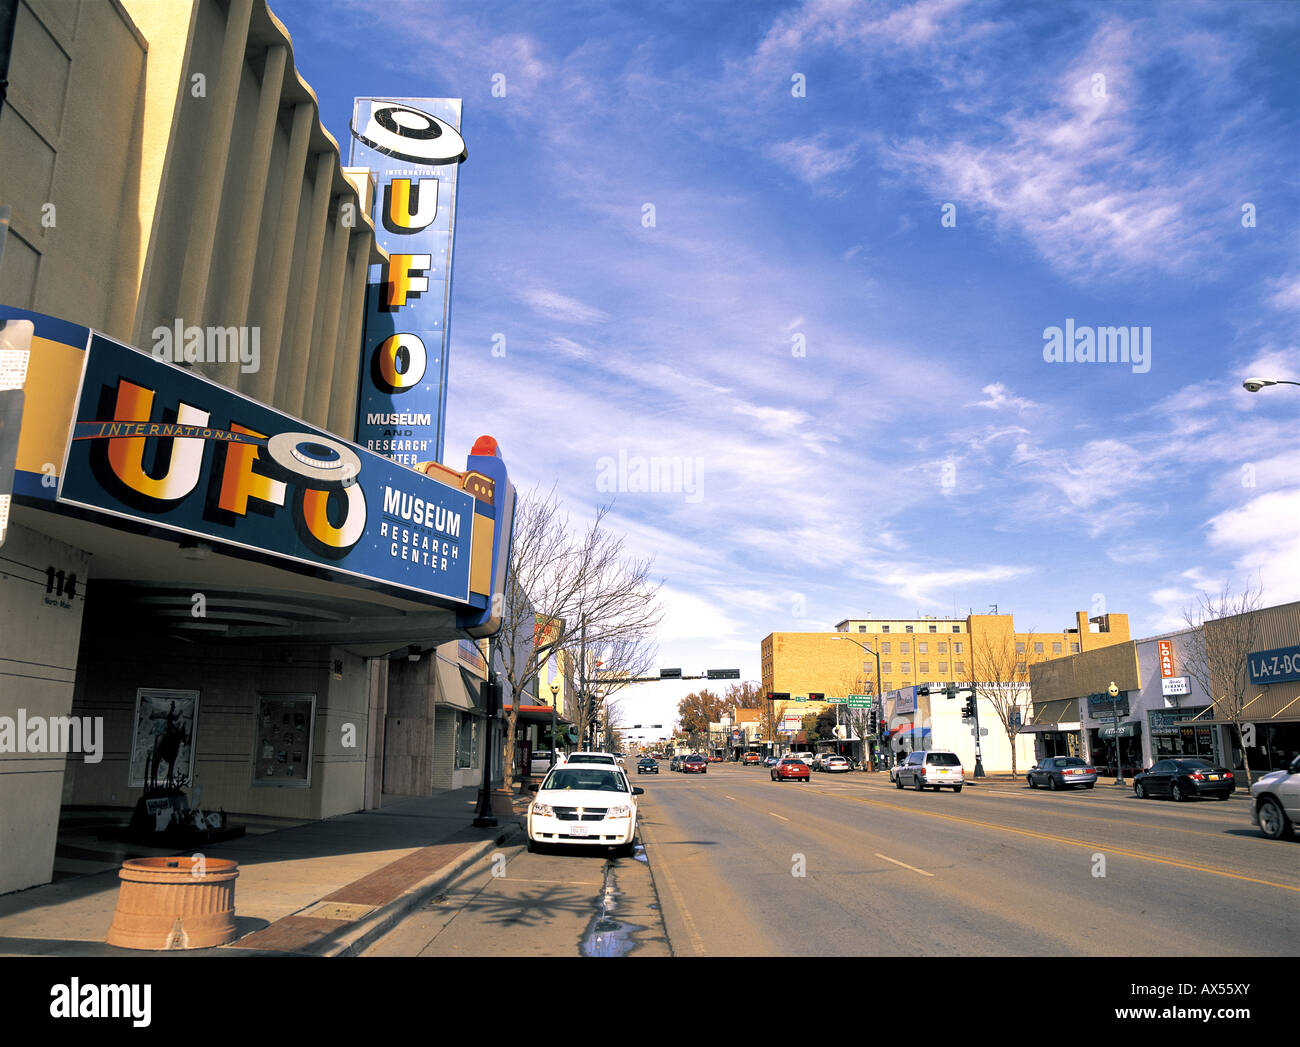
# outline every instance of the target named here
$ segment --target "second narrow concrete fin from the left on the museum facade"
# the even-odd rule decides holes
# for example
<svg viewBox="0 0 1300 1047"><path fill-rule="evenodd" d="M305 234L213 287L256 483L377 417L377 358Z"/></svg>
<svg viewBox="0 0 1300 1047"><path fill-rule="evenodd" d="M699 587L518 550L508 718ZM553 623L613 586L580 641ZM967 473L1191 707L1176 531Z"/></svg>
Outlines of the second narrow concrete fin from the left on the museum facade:
<svg viewBox="0 0 1300 1047"><path fill-rule="evenodd" d="M230 297L224 307L224 320L238 326L248 325L248 299L252 297L252 276L257 264L257 241L261 235L261 212L266 203L266 176L270 173L270 148L276 140L276 116L285 83L285 65L289 48L274 44L266 48L266 62L261 72L261 92L257 99L257 125L252 134L252 148L247 160L240 161L248 172L243 185L243 207L235 226L234 259L230 272ZM222 385L239 389L252 381L235 363L217 364L213 377Z"/></svg>

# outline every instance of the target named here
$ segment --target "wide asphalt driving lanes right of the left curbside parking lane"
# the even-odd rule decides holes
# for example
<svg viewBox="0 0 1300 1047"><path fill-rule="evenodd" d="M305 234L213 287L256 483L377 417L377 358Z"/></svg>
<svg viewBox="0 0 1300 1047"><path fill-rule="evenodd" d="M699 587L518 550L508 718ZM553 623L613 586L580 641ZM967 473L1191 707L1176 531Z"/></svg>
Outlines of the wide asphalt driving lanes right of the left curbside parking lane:
<svg viewBox="0 0 1300 1047"><path fill-rule="evenodd" d="M649 784L645 784L645 783ZM1239 793L1138 800L1023 783L896 789L760 767L647 778L641 839L677 955L1300 952L1300 844Z"/></svg>

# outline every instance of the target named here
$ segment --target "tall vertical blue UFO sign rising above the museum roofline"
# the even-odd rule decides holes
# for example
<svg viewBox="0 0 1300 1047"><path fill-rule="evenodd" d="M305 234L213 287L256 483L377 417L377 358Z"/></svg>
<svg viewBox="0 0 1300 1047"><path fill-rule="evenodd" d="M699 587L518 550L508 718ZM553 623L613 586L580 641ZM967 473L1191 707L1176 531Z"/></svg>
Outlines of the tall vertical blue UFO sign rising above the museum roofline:
<svg viewBox="0 0 1300 1047"><path fill-rule="evenodd" d="M460 99L359 98L348 163L376 181L356 442L394 462L442 460Z"/></svg>

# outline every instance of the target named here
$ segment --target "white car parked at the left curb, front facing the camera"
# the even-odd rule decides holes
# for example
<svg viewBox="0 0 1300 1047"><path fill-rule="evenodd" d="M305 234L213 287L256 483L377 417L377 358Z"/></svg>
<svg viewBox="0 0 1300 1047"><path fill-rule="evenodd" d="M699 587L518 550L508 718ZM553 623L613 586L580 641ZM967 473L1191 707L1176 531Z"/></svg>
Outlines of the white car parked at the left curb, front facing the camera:
<svg viewBox="0 0 1300 1047"><path fill-rule="evenodd" d="M637 797L644 793L618 767L555 767L528 805L528 849L578 844L630 856L637 835Z"/></svg>

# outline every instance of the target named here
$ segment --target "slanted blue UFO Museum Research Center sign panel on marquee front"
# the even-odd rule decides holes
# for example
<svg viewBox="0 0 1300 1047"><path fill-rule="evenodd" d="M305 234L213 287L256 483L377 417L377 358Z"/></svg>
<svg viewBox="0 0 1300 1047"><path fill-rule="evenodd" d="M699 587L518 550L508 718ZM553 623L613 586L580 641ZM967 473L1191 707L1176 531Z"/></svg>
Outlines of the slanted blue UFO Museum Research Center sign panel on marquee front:
<svg viewBox="0 0 1300 1047"><path fill-rule="evenodd" d="M467 603L473 497L95 333L58 502Z"/></svg>

